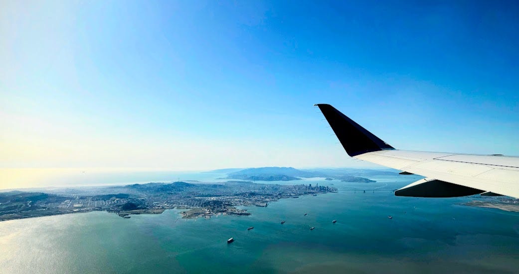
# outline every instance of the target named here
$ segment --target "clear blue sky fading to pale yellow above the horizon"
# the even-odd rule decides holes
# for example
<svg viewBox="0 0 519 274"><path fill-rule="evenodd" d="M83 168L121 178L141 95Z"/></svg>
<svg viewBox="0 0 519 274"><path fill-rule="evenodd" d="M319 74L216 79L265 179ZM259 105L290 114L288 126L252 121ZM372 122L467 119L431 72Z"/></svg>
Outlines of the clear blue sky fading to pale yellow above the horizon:
<svg viewBox="0 0 519 274"><path fill-rule="evenodd" d="M0 166L359 165L316 103L395 148L519 155L517 4L424 3L5 1Z"/></svg>

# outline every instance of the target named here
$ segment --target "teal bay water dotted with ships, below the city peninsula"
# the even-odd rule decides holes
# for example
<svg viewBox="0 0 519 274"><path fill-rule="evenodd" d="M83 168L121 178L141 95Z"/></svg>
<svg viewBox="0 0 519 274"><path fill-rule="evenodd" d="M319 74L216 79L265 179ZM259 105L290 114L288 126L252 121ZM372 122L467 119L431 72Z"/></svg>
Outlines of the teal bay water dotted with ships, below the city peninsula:
<svg viewBox="0 0 519 274"><path fill-rule="evenodd" d="M519 271L519 213L458 205L474 197L396 197L384 190L418 177L370 178L377 182L280 182L333 183L339 192L245 207L250 216L186 220L167 210L130 219L89 212L0 222L0 272ZM235 242L227 244L230 237Z"/></svg>

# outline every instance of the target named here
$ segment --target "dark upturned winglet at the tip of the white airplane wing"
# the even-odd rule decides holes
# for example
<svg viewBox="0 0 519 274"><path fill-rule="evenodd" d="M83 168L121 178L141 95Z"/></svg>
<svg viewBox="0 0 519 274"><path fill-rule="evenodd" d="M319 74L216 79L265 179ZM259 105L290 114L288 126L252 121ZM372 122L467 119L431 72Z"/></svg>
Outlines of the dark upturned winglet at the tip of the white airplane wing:
<svg viewBox="0 0 519 274"><path fill-rule="evenodd" d="M394 149L334 107L328 104L314 106L321 109L348 155L353 157L366 152Z"/></svg>

